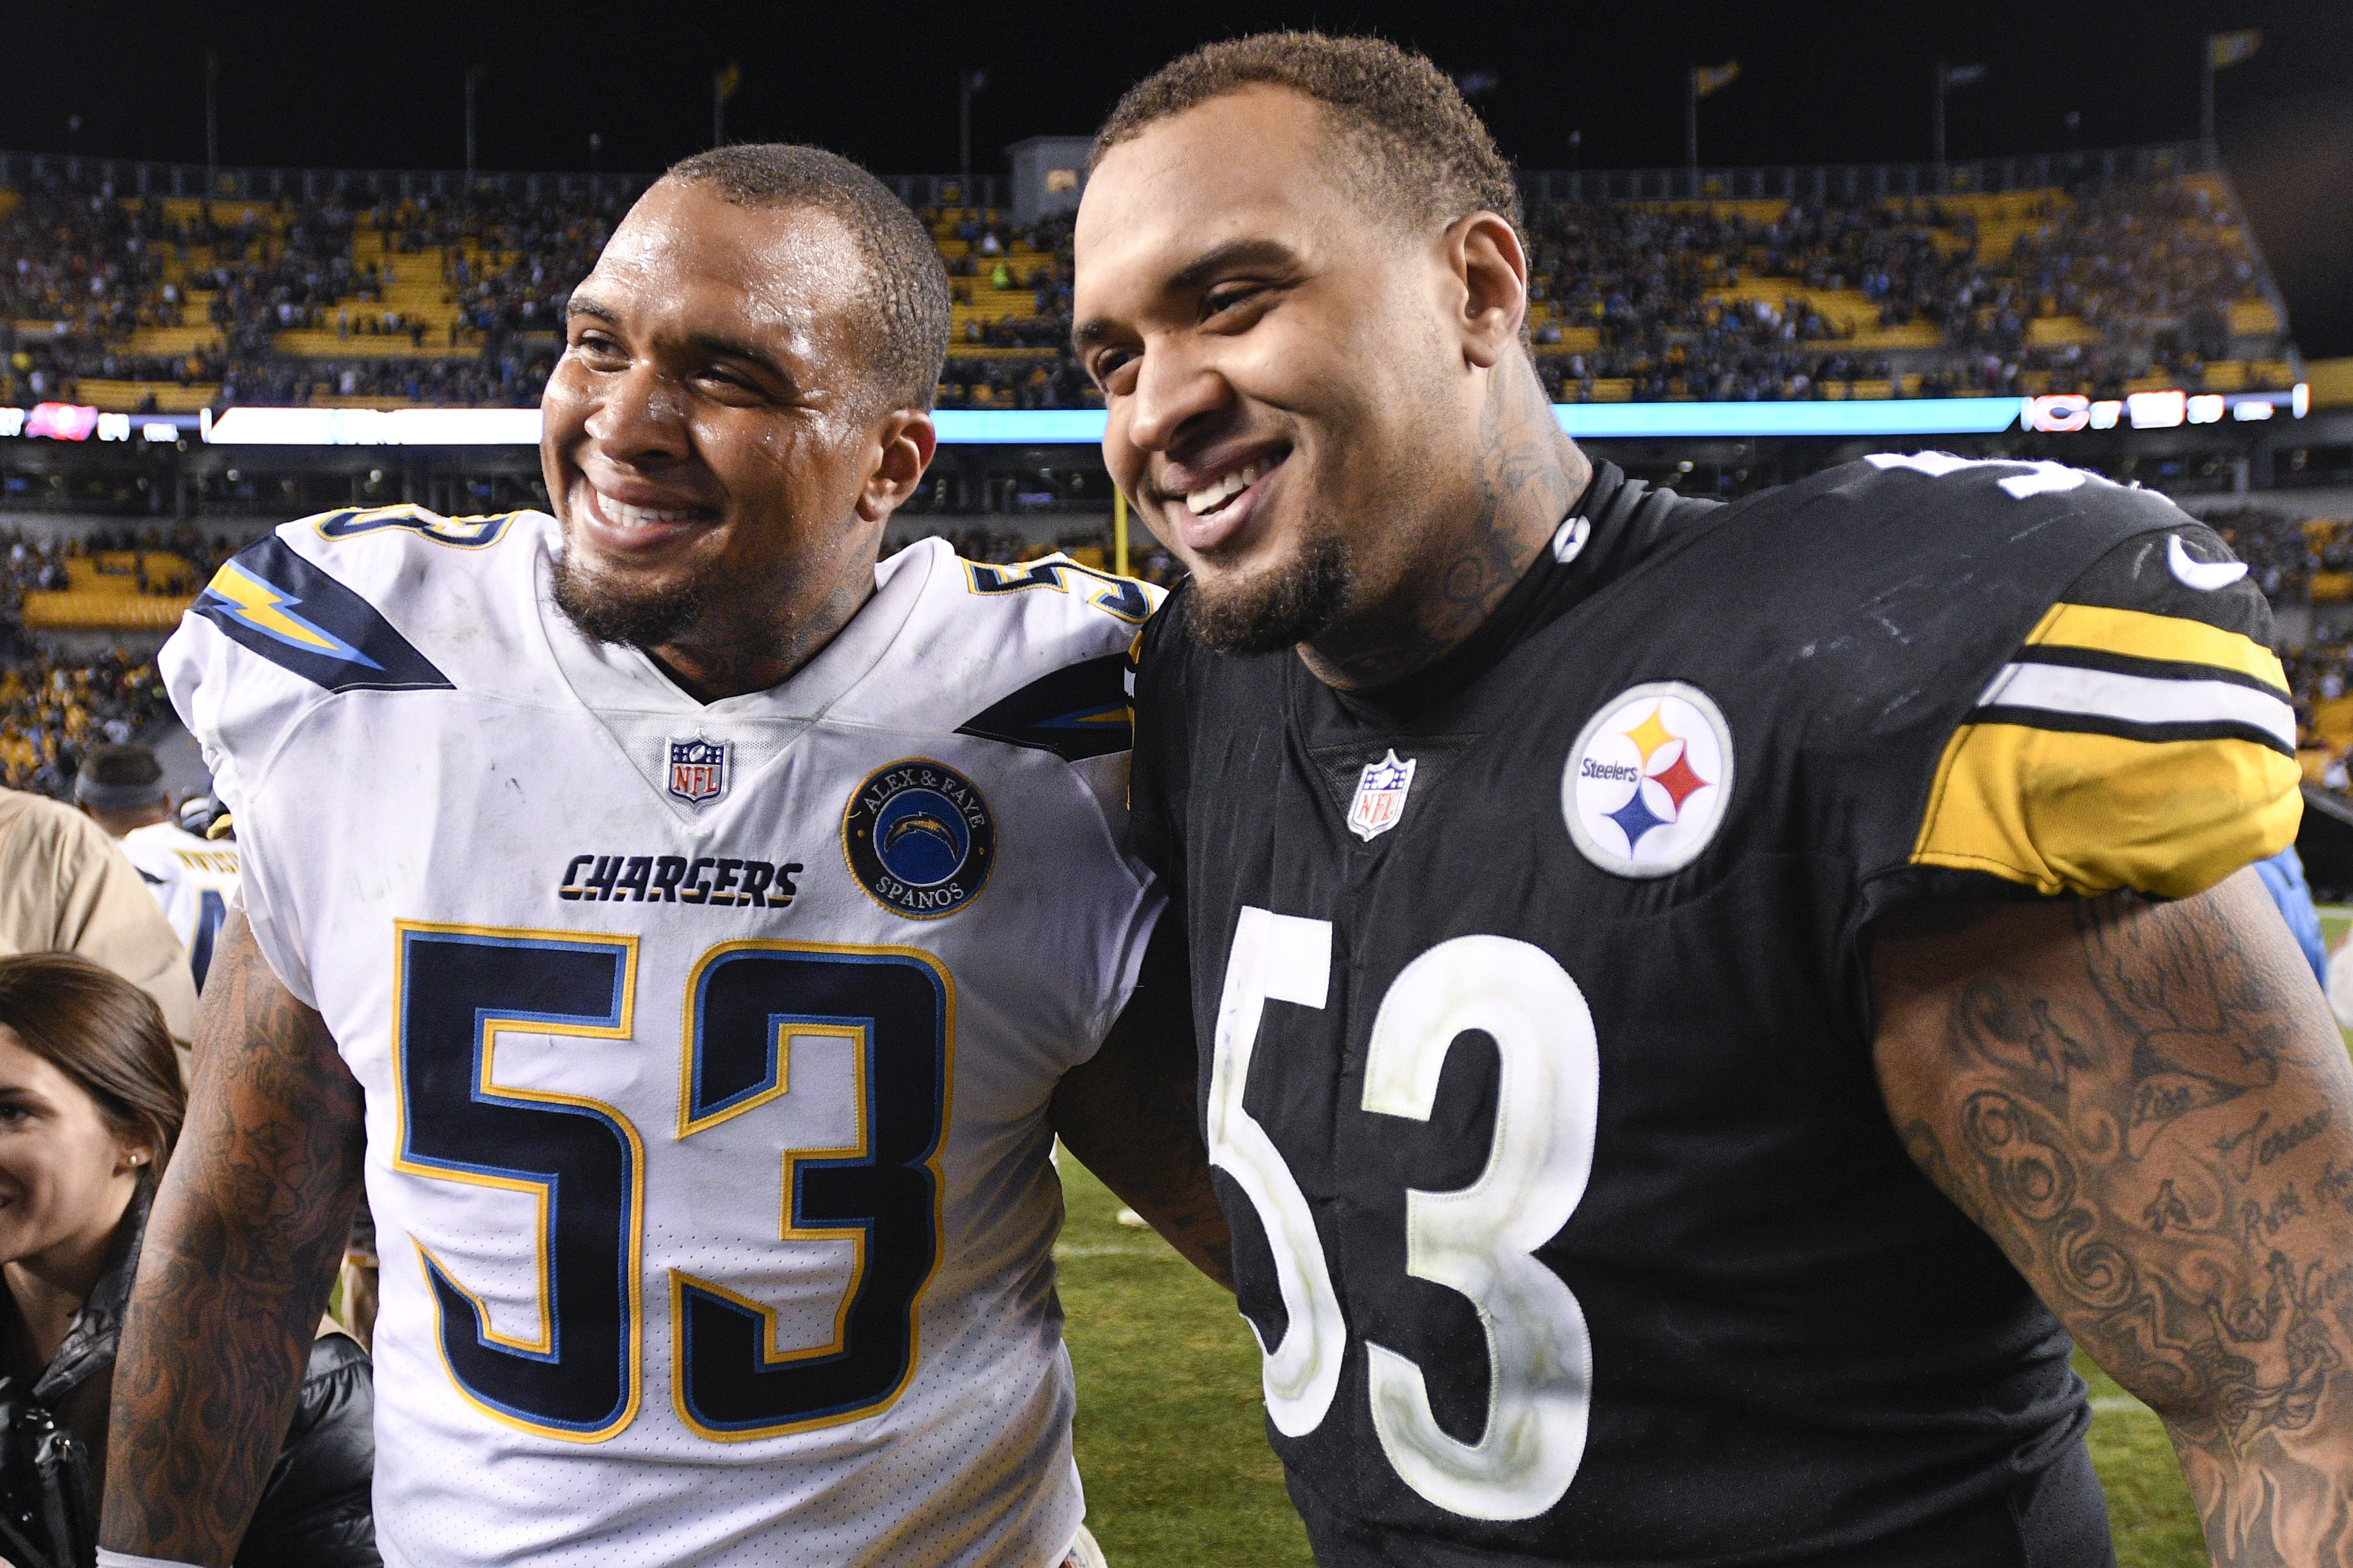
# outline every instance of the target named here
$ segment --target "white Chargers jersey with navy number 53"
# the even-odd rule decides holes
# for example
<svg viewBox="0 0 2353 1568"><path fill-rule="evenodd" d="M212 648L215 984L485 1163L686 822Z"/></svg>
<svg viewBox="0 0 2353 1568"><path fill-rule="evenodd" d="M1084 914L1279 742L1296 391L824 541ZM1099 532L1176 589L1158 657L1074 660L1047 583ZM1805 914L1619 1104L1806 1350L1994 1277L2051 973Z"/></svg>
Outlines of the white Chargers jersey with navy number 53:
<svg viewBox="0 0 2353 1568"><path fill-rule="evenodd" d="M245 909L367 1092L393 1568L1059 1563L1047 1097L1162 909L1153 593L918 544L696 704L553 518L287 523L162 655Z"/></svg>

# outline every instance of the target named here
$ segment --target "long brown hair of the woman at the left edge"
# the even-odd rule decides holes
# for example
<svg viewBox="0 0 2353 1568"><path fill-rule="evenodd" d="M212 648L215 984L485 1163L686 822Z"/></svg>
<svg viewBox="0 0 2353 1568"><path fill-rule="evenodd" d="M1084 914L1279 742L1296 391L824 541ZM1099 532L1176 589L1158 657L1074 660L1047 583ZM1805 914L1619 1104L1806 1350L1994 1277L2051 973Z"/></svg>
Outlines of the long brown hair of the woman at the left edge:
<svg viewBox="0 0 2353 1568"><path fill-rule="evenodd" d="M162 1177L188 1092L153 996L75 954L14 954L0 958L0 1024L89 1095L115 1137L155 1149L141 1184Z"/></svg>

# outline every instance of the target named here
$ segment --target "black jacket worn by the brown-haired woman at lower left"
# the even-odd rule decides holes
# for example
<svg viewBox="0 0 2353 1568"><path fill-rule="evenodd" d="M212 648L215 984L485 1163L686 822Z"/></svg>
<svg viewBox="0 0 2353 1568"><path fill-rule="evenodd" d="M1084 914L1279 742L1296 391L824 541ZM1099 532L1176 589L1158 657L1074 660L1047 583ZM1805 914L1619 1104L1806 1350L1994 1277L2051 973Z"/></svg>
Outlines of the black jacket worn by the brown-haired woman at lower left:
<svg viewBox="0 0 2353 1568"><path fill-rule="evenodd" d="M31 1394L0 1377L0 1556L12 1563L31 1556L21 1568L85 1568L94 1561L99 1476L89 1474L89 1448L59 1413L75 1403L75 1394L85 1406L89 1396L104 1401L104 1384L89 1384L113 1373L141 1231L144 1194L106 1274ZM14 1311L14 1300L0 1290L0 1314ZM238 1547L238 1568L384 1568L369 1511L374 1469L367 1351L344 1335L313 1340L294 1420Z"/></svg>

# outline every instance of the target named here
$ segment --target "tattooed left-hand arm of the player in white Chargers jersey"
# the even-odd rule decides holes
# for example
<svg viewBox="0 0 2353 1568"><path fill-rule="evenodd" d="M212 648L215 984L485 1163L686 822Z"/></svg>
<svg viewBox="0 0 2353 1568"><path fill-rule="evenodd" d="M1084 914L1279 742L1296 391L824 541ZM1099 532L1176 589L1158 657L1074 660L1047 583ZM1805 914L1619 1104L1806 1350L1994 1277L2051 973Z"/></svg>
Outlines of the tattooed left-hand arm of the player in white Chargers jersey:
<svg viewBox="0 0 2353 1568"><path fill-rule="evenodd" d="M115 1356L99 1540L228 1563L294 1413L360 1196L362 1097L242 913L221 930L195 1083Z"/></svg>

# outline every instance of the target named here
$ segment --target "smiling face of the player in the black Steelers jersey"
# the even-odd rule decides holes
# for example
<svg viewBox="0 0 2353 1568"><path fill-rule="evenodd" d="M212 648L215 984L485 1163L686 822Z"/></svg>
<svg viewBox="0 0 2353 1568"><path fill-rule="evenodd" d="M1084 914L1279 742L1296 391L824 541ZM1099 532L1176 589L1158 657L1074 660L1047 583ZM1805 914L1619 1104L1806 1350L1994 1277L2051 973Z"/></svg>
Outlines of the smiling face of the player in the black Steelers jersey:
<svg viewBox="0 0 2353 1568"><path fill-rule="evenodd" d="M1144 127L1078 214L1078 353L1104 461L1193 572L1193 629L1264 652L1426 591L1478 504L1485 379L1452 228L1379 214L1304 94Z"/></svg>

